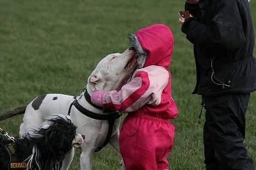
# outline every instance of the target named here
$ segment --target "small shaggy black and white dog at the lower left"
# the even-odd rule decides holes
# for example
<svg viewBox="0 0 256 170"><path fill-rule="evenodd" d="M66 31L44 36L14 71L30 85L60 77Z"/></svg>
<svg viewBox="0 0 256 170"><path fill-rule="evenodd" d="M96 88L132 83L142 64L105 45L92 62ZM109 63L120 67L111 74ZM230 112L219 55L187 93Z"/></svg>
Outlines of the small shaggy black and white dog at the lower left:
<svg viewBox="0 0 256 170"><path fill-rule="evenodd" d="M84 142L84 135L76 133L76 128L70 116L51 115L42 125L16 139L13 155L7 149L13 141L0 136L0 169L8 170L14 160L26 163L27 169L60 169L72 147L78 148Z"/></svg>

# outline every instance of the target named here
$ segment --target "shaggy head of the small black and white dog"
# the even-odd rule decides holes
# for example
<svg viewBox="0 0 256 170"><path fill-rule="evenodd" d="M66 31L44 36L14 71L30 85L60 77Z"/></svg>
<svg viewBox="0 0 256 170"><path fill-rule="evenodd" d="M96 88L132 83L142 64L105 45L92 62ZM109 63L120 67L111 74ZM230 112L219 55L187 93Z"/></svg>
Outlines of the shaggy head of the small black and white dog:
<svg viewBox="0 0 256 170"><path fill-rule="evenodd" d="M38 128L28 130L24 138L33 143L28 163L41 169L59 169L71 148L84 142L85 137L76 133L76 129L70 116L51 115Z"/></svg>

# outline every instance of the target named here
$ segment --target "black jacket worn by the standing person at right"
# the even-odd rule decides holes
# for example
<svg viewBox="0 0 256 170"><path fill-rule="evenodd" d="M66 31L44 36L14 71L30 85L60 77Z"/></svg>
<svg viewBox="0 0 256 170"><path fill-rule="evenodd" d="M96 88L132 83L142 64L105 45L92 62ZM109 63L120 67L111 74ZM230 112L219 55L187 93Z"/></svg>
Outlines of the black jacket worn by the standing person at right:
<svg viewBox="0 0 256 170"><path fill-rule="evenodd" d="M182 31L194 44L197 82L205 96L256 90L254 32L248 0L201 0L185 4L194 17Z"/></svg>

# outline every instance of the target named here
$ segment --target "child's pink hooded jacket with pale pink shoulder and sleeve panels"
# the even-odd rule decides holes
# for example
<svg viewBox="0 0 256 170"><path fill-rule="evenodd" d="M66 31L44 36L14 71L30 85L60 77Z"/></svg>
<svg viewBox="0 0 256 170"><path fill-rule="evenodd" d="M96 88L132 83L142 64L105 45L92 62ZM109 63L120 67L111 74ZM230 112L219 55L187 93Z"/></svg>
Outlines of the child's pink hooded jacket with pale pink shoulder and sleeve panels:
<svg viewBox="0 0 256 170"><path fill-rule="evenodd" d="M161 24L138 30L136 37L148 56L143 68L119 91L94 92L91 101L119 112L136 112L164 119L178 115L171 95L171 72L168 67L173 52L173 34Z"/></svg>

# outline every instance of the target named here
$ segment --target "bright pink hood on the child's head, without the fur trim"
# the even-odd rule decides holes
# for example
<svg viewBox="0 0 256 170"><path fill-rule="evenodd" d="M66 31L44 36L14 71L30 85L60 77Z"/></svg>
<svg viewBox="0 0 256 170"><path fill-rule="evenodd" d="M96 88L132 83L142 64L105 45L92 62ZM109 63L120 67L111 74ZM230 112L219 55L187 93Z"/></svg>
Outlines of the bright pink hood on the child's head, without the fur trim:
<svg viewBox="0 0 256 170"><path fill-rule="evenodd" d="M155 65L168 68L171 64L173 51L173 34L162 24L142 28L136 32L142 49L148 56L143 67Z"/></svg>

